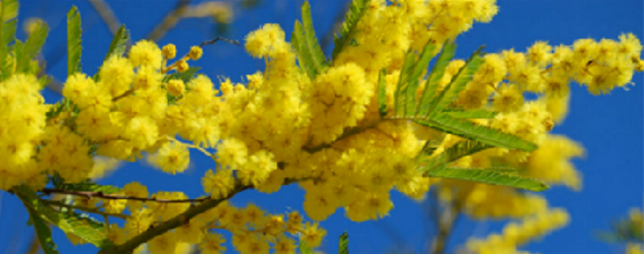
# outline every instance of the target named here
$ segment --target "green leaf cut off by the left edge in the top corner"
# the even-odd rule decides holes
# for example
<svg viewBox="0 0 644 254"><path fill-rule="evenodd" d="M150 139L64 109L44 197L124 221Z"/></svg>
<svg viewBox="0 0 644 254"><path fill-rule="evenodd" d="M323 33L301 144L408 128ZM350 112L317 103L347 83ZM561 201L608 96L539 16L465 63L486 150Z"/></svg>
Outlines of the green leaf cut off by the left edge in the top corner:
<svg viewBox="0 0 644 254"><path fill-rule="evenodd" d="M12 74L12 62L7 60L9 44L16 39L19 4L17 0L1 1L0 9L0 78L6 80Z"/></svg>

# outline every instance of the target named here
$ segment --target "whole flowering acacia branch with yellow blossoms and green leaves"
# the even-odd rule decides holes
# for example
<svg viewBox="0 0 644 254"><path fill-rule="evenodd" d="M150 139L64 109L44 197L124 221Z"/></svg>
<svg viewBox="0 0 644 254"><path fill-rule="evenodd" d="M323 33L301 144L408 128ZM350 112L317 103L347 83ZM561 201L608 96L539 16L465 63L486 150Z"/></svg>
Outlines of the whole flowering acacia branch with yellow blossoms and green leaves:
<svg viewBox="0 0 644 254"><path fill-rule="evenodd" d="M36 78L34 60L46 26L39 24L24 44L15 40L17 6L2 1L0 12L0 118L10 123L0 127L1 147L10 154L0 188L22 199L48 254L56 245L47 224L102 253L130 253L146 243L153 254L186 244L222 253L222 230L241 253L294 253L294 237L310 253L325 235L312 221L338 208L353 221L379 219L393 208L391 190L422 198L432 185L477 219L536 215L524 226L545 226L520 239L468 245L511 251L568 221L542 197L516 190L580 184L568 161L582 148L548 134L566 112L568 84L605 93L644 69L632 34L554 49L536 42L526 53L481 48L458 60L455 38L475 21L490 21L494 1L357 0L331 57L317 42L305 3L290 42L276 24L246 37L246 51L266 60L264 72L248 75L245 84L225 80L217 90L188 63L220 39L181 57L172 44L149 41L126 53L124 26L99 71L83 73L80 13L72 8L65 98L48 105L38 91L49 79ZM538 99L526 101L525 93ZM203 197L92 181L116 161L141 158L180 174L191 151L213 159L201 179ZM294 183L306 190L311 222L297 211L271 215L226 202L245 190L272 193ZM108 217L124 224L108 224ZM340 242L347 253L346 235Z"/></svg>

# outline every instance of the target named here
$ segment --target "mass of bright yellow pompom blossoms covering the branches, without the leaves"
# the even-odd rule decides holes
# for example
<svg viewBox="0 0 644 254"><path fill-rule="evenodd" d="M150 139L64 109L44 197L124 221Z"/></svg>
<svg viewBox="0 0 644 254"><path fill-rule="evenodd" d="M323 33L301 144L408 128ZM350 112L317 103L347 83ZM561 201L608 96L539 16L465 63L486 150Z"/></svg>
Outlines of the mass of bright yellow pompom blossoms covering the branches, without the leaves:
<svg viewBox="0 0 644 254"><path fill-rule="evenodd" d="M298 212L269 215L257 206L237 208L225 200L248 188L272 193L298 183L306 191L303 206L310 219L323 221L344 208L349 219L366 221L389 214L391 190L421 199L437 185L443 201L476 219L532 218L467 246L477 253L516 253L516 246L566 224L566 212L550 210L543 197L514 188L428 177L418 170L423 166L419 153L436 144L433 153L424 154L436 158L464 138L394 116L396 88L409 81L401 80L401 73L408 72L402 68L408 56L416 57L425 45L436 46L429 55L437 55L440 45L448 45L444 43L474 21L490 21L497 11L494 0L370 1L355 25L359 32L344 38L346 45L339 45L332 60L312 67L317 75L304 70L303 56L286 41L282 28L266 24L250 33L245 44L250 55L264 59L264 71L248 75L247 84L222 80L219 90L206 75L190 72L194 69L187 63L202 57L204 44L168 64L177 56L176 46L137 42L126 56L108 57L93 77L69 75L62 91L65 101L53 107L38 95L33 76L12 75L0 82L0 118L9 123L0 126L0 150L8 154L0 159L0 189L24 183L42 190L48 174L81 183L103 167L97 162L105 158L146 157L162 171L179 174L189 167L189 151L195 149L213 160L201 178L206 197L187 201L183 192L150 194L145 185L133 182L111 198L99 192L96 199L76 197L72 204L124 217L123 227L106 227L110 242L119 245L164 221L181 219L193 208L190 202L221 201L153 237L147 249L174 254L178 246L196 244L202 253L223 253L226 239L217 232L226 230L240 253L265 254L272 248L291 254L296 246L291 236L316 247L325 230L317 223L304 224ZM536 42L526 53L512 49L482 57L465 89L452 96L450 108L498 112L467 123L518 136L539 149L494 147L449 166L483 170L510 165L518 170L509 174L578 189L580 174L570 158L581 156L582 147L548 132L567 112L570 82L593 94L607 93L629 84L634 71L644 71L639 40L632 34L619 39L580 39L554 48ZM446 92L466 64L449 62L434 77L436 93ZM427 70L421 72L412 81L425 84ZM382 82L384 112L378 94ZM407 94L420 99L424 92L420 85ZM525 93L539 98L527 100Z"/></svg>

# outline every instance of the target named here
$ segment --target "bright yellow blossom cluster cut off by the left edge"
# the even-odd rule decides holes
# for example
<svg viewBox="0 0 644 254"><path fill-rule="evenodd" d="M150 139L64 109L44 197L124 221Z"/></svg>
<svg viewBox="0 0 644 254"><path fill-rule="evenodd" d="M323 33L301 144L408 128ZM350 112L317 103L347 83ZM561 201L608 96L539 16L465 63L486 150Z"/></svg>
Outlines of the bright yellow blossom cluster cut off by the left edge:
<svg viewBox="0 0 644 254"><path fill-rule="evenodd" d="M38 90L40 84L31 75L13 75L0 82L0 151L3 154L0 158L0 189L8 190L20 183L35 189L44 187L46 168L33 160L33 156L55 161L61 165L60 168L63 163L74 164L65 160L63 152L87 156L87 149L83 154L82 139L63 136L49 141L56 143L56 149L41 149L36 153L37 146L48 141L42 139L50 130L46 129L45 123L49 105L44 104Z"/></svg>

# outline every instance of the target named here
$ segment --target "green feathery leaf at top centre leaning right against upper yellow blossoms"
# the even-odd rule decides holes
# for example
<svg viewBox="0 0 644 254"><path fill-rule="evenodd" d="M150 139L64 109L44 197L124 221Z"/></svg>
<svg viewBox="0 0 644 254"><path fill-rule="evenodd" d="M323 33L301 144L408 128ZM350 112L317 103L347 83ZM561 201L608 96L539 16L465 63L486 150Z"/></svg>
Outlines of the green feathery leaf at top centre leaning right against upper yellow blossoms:
<svg viewBox="0 0 644 254"><path fill-rule="evenodd" d="M342 23L342 29L340 30L339 35L335 35L333 39L333 53L332 58L335 60L337 55L344 50L347 46L350 45L355 33L357 33L357 24L364 16L364 13L369 7L370 0L353 0L349 11L344 17L344 23Z"/></svg>

